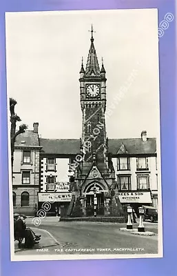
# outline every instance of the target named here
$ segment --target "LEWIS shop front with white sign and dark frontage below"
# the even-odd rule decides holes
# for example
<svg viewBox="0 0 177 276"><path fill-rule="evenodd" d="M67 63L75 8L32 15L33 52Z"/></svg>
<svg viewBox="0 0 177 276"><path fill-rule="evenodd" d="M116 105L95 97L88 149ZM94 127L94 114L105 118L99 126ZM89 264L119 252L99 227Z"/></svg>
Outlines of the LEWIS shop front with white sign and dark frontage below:
<svg viewBox="0 0 177 276"><path fill-rule="evenodd" d="M71 193L38 193L39 209L45 210L46 216L66 217L70 205Z"/></svg>

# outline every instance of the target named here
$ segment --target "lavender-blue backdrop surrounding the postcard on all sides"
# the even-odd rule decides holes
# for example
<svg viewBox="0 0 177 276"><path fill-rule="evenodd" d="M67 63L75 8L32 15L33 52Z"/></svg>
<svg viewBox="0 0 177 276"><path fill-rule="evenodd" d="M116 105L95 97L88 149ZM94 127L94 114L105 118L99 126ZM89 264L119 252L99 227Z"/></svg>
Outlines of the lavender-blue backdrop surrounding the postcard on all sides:
<svg viewBox="0 0 177 276"><path fill-rule="evenodd" d="M160 124L163 183L164 257L160 259L107 259L78 261L10 262L8 203L8 129L6 97L6 43L4 12L33 10L92 10L158 8L158 22L167 12L175 17L175 0L2 0L0 3L1 69L1 275L109 275L175 276L177 274L176 208L176 52L175 20L159 39Z"/></svg>

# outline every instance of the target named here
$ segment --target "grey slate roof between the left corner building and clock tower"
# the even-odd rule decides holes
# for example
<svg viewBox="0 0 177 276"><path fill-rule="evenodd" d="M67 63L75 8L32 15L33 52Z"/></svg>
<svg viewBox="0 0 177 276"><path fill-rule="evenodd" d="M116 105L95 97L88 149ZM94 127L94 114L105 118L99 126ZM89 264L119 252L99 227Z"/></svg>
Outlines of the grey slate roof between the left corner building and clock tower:
<svg viewBox="0 0 177 276"><path fill-rule="evenodd" d="M43 139L39 138L42 152L47 154L76 155L80 152L79 139Z"/></svg>

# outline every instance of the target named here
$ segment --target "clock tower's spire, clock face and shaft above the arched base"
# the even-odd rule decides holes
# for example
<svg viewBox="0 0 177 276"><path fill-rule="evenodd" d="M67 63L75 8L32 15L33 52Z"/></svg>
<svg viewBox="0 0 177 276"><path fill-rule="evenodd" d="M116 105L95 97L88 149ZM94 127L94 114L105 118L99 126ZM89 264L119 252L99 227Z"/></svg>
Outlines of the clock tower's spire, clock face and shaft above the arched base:
<svg viewBox="0 0 177 276"><path fill-rule="evenodd" d="M105 162L107 148L105 130L106 78L105 68L99 68L94 48L93 28L86 68L83 61L80 71L81 110L83 113L82 144L84 161L92 161L95 153L98 162Z"/></svg>

